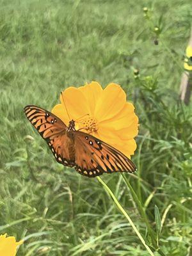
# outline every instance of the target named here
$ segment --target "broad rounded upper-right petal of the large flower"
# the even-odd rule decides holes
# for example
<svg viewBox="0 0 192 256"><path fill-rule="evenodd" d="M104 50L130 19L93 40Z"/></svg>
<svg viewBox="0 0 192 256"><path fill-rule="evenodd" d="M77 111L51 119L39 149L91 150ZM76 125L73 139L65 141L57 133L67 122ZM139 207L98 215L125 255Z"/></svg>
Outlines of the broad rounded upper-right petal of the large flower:
<svg viewBox="0 0 192 256"><path fill-rule="evenodd" d="M119 113L126 102L126 94L118 84L108 84L95 106L95 118L101 122Z"/></svg>

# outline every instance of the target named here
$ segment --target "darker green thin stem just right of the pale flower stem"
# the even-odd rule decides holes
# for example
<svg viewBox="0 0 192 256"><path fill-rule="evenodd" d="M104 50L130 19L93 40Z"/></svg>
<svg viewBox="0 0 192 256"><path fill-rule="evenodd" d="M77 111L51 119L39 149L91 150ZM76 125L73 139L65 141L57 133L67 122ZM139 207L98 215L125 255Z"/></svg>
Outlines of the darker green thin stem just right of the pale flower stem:
<svg viewBox="0 0 192 256"><path fill-rule="evenodd" d="M148 222L147 214L144 211L138 196L134 192L134 189L132 188L131 184L129 183L129 180L125 177L125 173L121 173L121 175L122 175L125 183L127 184L127 187L131 191L132 198L133 198L134 202L136 203L136 205L138 206L138 212L140 213L141 218L143 218L143 221L145 221L145 224L147 226L147 231L148 231L148 234L150 234L150 239L152 240L152 244L156 248L157 247L156 239L154 239L154 237L156 237L156 234L155 234L154 230L152 230L152 228L150 227L150 223Z"/></svg>

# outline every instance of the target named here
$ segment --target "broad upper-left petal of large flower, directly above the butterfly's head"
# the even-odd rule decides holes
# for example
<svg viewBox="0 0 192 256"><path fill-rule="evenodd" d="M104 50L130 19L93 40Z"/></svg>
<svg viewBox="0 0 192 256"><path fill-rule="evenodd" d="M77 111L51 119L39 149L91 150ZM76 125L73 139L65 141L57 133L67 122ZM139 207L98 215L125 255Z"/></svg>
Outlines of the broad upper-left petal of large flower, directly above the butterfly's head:
<svg viewBox="0 0 192 256"><path fill-rule="evenodd" d="M83 92L78 90L76 87L68 87L60 95L61 104L63 108L67 108L70 120L77 120L84 115L90 114L86 97ZM64 102L63 102L64 100Z"/></svg>

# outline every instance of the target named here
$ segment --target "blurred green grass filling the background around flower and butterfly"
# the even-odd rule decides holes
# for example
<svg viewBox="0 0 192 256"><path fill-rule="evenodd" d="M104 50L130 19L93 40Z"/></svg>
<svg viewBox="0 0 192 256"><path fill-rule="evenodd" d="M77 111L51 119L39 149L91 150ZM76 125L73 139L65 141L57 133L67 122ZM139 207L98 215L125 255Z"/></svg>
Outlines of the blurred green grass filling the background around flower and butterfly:
<svg viewBox="0 0 192 256"><path fill-rule="evenodd" d="M113 81L140 118L138 172L126 177L164 255L190 256L192 109L178 92L191 1L0 2L0 234L25 240L19 256L149 255L100 182L56 163L23 113L51 109L67 86ZM122 175L102 179L145 237Z"/></svg>

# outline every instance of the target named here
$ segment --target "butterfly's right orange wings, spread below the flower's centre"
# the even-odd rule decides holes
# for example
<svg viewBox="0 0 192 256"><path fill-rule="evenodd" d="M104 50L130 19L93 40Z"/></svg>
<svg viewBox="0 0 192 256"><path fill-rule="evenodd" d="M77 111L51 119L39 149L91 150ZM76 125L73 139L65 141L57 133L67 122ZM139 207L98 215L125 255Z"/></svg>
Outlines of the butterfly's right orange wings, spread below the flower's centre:
<svg viewBox="0 0 192 256"><path fill-rule="evenodd" d="M76 131L75 148L76 170L82 175L95 177L102 173L136 171L128 157L90 134Z"/></svg>

